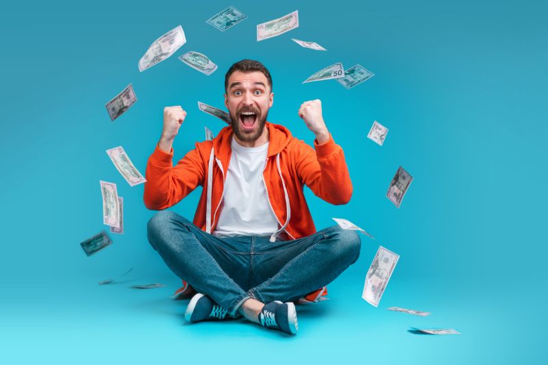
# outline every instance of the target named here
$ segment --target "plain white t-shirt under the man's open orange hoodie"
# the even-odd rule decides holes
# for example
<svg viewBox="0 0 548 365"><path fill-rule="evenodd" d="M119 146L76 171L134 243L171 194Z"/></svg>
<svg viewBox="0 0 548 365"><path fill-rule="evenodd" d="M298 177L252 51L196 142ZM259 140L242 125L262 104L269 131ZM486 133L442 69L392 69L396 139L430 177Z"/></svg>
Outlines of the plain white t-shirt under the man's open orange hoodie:
<svg viewBox="0 0 548 365"><path fill-rule="evenodd" d="M262 178L269 143L243 147L234 138L225 179L223 206L214 236L270 236L278 221Z"/></svg>

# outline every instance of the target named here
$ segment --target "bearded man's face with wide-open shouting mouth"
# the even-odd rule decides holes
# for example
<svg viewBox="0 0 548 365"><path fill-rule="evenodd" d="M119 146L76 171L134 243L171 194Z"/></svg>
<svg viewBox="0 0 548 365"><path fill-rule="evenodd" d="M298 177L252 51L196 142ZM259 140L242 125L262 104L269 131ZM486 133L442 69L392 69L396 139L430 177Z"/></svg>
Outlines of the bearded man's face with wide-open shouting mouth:
<svg viewBox="0 0 548 365"><path fill-rule="evenodd" d="M268 79L260 71L234 71L228 79L225 105L232 129L242 142L254 142L261 135L274 102Z"/></svg>

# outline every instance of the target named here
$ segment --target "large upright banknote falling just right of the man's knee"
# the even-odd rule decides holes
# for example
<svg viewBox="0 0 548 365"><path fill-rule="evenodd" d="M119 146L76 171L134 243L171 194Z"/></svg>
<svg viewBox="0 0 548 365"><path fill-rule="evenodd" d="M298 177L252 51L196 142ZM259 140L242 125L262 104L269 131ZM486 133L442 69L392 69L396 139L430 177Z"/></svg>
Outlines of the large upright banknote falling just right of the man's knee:
<svg viewBox="0 0 548 365"><path fill-rule="evenodd" d="M362 298L367 303L377 307L381 301L382 294L386 290L388 281L392 276L394 268L399 260L399 255L379 246L373 263L367 271L365 278L364 292Z"/></svg>

